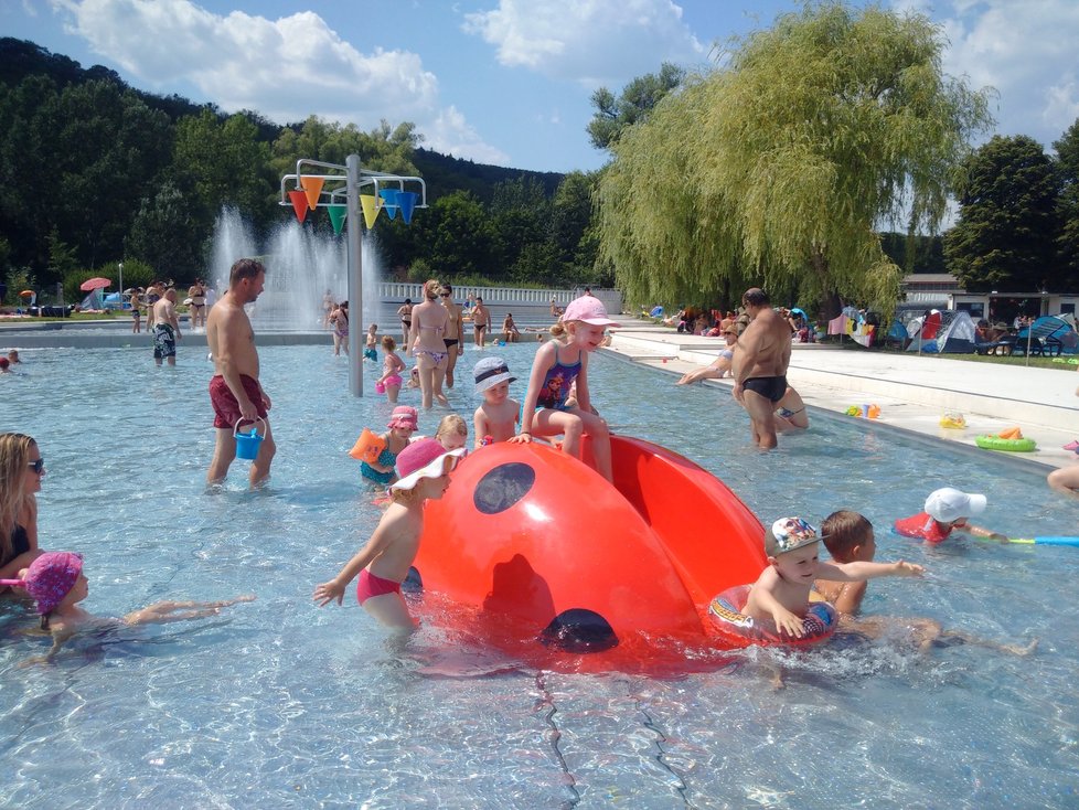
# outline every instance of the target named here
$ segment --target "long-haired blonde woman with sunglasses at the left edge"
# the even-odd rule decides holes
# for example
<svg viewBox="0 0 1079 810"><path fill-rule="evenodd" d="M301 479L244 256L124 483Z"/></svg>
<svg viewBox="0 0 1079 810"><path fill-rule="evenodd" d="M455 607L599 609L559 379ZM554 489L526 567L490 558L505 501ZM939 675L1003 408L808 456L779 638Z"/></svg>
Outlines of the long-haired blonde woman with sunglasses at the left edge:
<svg viewBox="0 0 1079 810"><path fill-rule="evenodd" d="M36 441L23 434L0 434L0 579L14 577L41 554L36 494L44 475Z"/></svg>

